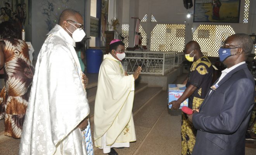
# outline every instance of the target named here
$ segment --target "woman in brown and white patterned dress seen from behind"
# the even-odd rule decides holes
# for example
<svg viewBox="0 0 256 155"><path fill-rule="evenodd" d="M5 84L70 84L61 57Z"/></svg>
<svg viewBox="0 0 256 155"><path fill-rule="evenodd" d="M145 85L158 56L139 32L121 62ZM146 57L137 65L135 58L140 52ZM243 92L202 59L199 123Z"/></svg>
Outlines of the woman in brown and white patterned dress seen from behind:
<svg viewBox="0 0 256 155"><path fill-rule="evenodd" d="M2 22L0 29L0 65L4 60L5 74L5 86L0 93L0 119L4 119L5 136L20 138L34 67L29 60L28 45L17 39L21 31L11 22Z"/></svg>

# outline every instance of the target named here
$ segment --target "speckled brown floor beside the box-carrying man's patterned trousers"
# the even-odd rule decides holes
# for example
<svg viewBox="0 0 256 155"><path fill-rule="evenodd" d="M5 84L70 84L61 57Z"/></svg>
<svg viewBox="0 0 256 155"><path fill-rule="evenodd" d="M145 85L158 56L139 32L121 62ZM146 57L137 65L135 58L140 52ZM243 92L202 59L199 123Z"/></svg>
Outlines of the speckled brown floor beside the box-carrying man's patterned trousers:
<svg viewBox="0 0 256 155"><path fill-rule="evenodd" d="M133 155L181 154L181 111L176 112L178 115L170 115L168 111L166 107Z"/></svg>

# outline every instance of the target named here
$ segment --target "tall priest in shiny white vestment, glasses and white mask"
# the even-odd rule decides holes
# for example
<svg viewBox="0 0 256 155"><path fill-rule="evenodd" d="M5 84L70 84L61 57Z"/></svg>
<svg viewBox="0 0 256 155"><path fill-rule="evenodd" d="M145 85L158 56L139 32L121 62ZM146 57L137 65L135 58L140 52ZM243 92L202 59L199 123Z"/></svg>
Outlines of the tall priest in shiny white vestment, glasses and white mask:
<svg viewBox="0 0 256 155"><path fill-rule="evenodd" d="M89 105L74 50L85 36L83 17L72 9L47 34L35 75L21 135L20 155L87 155L81 130Z"/></svg>

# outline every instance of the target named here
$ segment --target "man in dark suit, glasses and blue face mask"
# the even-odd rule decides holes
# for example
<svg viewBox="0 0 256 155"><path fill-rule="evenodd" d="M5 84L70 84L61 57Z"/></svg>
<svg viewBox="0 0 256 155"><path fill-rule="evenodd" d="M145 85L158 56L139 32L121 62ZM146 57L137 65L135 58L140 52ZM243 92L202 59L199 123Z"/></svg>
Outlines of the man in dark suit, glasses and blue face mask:
<svg viewBox="0 0 256 155"><path fill-rule="evenodd" d="M187 115L197 129L192 155L244 155L254 104L254 79L245 63L253 48L247 34L233 34L220 48L227 66L211 86L199 112Z"/></svg>

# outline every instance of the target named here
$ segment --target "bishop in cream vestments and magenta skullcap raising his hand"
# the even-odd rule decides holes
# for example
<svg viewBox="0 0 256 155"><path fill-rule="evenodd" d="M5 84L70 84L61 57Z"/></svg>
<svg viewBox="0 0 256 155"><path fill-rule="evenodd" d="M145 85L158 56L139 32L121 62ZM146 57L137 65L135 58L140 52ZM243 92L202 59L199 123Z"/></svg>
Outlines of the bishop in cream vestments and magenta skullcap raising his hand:
<svg viewBox="0 0 256 155"><path fill-rule="evenodd" d="M141 67L134 74L127 75L121 64L125 58L125 44L112 40L110 53L104 55L100 66L98 88L94 110L94 145L103 153L118 155L113 148L130 147L136 141L132 107L134 80Z"/></svg>

